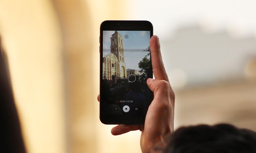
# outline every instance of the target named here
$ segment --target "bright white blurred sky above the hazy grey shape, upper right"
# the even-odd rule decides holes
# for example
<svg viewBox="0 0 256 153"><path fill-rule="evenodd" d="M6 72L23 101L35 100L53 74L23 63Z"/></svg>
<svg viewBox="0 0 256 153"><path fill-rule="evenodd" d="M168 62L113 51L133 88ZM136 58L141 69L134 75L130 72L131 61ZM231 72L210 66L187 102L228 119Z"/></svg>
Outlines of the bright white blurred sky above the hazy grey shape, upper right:
<svg viewBox="0 0 256 153"><path fill-rule="evenodd" d="M255 33L254 0L132 0L130 8L137 20L153 23L154 33L170 37L178 26L201 24L210 31L229 29L241 37Z"/></svg>

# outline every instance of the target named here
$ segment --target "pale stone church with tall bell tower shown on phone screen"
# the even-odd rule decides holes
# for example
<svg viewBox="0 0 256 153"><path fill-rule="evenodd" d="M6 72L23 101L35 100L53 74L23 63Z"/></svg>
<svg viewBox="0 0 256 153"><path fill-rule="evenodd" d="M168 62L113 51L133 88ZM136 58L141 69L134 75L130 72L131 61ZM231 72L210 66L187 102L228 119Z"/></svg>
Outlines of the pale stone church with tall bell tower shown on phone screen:
<svg viewBox="0 0 256 153"><path fill-rule="evenodd" d="M126 78L123 38L117 31L111 36L110 54L103 58L103 77L107 80Z"/></svg>

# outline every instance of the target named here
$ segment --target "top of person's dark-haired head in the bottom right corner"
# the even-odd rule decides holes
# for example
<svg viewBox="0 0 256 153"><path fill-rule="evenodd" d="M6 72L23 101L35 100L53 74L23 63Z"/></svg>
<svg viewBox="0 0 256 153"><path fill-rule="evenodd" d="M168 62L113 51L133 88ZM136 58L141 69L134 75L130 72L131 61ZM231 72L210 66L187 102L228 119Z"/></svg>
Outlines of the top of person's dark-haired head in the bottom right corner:
<svg viewBox="0 0 256 153"><path fill-rule="evenodd" d="M164 153L256 153L256 132L230 124L181 127L167 138Z"/></svg>

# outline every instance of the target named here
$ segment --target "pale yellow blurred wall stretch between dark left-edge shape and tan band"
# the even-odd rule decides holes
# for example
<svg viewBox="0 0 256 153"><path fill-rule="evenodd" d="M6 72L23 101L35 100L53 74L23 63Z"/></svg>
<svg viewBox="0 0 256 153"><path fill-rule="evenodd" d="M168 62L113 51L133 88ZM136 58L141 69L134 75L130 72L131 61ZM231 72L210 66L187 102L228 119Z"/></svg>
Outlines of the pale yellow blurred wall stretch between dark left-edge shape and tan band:
<svg viewBox="0 0 256 153"><path fill-rule="evenodd" d="M0 1L0 34L28 152L65 152L61 37L48 0Z"/></svg>

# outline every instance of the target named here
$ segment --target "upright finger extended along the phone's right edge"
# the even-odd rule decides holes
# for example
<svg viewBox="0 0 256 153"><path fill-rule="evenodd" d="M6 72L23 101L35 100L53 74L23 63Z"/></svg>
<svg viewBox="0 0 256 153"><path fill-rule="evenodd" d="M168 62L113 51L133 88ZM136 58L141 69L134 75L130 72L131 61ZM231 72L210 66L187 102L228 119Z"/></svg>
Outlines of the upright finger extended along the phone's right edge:
<svg viewBox="0 0 256 153"><path fill-rule="evenodd" d="M153 74L158 80L166 80L169 82L165 71L162 55L160 51L160 43L158 36L152 36L150 39L150 53L152 60Z"/></svg>

